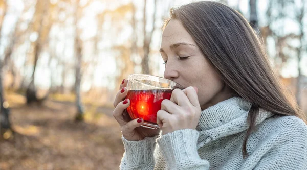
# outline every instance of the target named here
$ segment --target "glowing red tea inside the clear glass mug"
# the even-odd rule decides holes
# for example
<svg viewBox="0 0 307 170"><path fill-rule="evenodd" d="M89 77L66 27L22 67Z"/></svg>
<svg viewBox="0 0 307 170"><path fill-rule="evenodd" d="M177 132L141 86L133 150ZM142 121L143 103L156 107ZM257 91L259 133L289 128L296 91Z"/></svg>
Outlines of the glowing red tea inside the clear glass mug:
<svg viewBox="0 0 307 170"><path fill-rule="evenodd" d="M170 99L171 89L129 90L127 112L132 119L143 118L148 123L157 124L157 112L164 99Z"/></svg>

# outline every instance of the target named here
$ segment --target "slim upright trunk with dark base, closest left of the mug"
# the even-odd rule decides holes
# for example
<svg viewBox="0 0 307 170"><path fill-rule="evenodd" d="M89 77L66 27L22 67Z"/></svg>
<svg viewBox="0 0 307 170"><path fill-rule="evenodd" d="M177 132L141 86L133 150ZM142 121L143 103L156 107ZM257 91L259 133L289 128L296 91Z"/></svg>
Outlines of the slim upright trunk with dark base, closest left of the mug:
<svg viewBox="0 0 307 170"><path fill-rule="evenodd" d="M75 53L76 53L76 73L75 73L75 93L76 93L76 107L77 107L77 115L75 120L81 121L84 119L84 108L82 106L81 100L81 63L82 63L82 42L80 37L80 32L77 27L79 21L79 1L76 2L76 18L75 18Z"/></svg>

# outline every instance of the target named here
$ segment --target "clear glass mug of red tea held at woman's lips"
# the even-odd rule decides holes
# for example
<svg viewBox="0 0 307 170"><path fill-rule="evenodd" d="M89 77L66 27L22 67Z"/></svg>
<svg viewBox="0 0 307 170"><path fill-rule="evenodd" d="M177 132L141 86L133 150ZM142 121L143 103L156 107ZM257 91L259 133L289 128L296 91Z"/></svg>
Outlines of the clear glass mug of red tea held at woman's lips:
<svg viewBox="0 0 307 170"><path fill-rule="evenodd" d="M171 80L145 74L132 74L127 78L127 96L130 106L126 109L131 119L143 118L142 127L159 129L157 112L164 99L170 100L174 89L183 89Z"/></svg>

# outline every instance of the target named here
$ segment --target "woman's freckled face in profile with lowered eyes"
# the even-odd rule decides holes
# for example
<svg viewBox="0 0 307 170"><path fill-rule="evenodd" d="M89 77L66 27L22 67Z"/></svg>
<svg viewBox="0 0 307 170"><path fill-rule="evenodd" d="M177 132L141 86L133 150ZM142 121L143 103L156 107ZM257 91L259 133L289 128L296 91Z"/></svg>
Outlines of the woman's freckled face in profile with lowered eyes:
<svg viewBox="0 0 307 170"><path fill-rule="evenodd" d="M230 98L231 90L224 87L220 76L178 19L171 19L164 29L160 52L166 62L164 77L184 88L198 87L202 109Z"/></svg>

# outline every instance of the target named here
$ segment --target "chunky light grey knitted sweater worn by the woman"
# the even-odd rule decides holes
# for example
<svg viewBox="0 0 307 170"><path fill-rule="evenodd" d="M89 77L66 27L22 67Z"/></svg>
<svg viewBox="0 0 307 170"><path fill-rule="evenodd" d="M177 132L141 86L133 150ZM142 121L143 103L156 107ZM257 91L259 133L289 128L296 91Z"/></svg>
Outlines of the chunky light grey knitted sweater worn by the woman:
<svg viewBox="0 0 307 170"><path fill-rule="evenodd" d="M230 98L202 111L196 130L128 141L120 169L307 169L307 126L295 116L260 109L256 130L242 145L251 103Z"/></svg>

